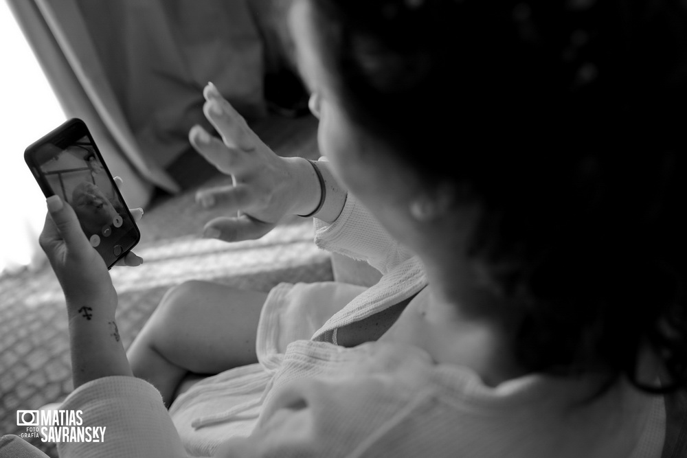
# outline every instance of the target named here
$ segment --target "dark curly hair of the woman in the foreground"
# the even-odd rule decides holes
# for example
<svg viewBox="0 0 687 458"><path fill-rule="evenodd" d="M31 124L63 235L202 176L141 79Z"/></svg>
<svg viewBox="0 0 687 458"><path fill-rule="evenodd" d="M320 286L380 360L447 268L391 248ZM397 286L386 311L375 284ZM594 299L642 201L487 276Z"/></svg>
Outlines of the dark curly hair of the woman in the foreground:
<svg viewBox="0 0 687 458"><path fill-rule="evenodd" d="M473 312L521 365L684 387L686 3L310 1L343 109L482 204L469 255L512 309Z"/></svg>

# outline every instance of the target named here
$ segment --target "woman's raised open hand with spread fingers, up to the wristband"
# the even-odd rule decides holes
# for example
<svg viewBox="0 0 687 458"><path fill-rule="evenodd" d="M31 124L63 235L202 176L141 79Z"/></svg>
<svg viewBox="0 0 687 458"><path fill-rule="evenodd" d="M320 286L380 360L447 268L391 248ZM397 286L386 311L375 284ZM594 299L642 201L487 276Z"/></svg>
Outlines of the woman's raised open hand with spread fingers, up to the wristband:
<svg viewBox="0 0 687 458"><path fill-rule="evenodd" d="M232 176L233 185L202 190L196 201L204 207L222 205L227 213L236 214L208 222L205 236L228 242L260 238L284 216L314 209L319 188L311 165L275 154L212 83L203 95L205 117L222 138L194 126L189 139L207 161Z"/></svg>

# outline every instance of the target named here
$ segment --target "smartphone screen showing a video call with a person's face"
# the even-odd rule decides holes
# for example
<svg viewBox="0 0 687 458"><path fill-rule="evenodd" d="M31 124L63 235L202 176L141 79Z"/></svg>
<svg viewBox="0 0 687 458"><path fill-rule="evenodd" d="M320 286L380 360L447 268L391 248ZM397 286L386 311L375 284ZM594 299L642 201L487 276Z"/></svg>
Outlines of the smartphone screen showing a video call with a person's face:
<svg viewBox="0 0 687 458"><path fill-rule="evenodd" d="M128 233L134 222L88 135L63 146L45 143L35 157L46 184L74 208L91 246L106 262L131 249L133 234Z"/></svg>

